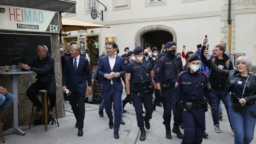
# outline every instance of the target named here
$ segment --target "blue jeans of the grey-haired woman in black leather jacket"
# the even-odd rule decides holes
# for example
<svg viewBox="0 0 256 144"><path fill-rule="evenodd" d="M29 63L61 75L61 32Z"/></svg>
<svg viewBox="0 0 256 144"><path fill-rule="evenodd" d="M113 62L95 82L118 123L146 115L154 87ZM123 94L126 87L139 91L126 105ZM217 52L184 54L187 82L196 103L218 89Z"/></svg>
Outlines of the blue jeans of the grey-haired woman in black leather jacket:
<svg viewBox="0 0 256 144"><path fill-rule="evenodd" d="M250 111L246 108L238 112L234 111L232 102L229 104L229 116L234 129L235 144L249 144L254 136L256 119L251 117ZM256 105L248 107L251 111L256 110Z"/></svg>

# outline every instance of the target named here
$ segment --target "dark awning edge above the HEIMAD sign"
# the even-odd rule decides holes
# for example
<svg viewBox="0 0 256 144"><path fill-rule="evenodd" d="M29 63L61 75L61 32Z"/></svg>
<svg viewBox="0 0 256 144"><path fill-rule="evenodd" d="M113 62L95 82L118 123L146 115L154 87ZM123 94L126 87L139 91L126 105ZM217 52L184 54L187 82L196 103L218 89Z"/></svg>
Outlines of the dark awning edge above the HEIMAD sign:
<svg viewBox="0 0 256 144"><path fill-rule="evenodd" d="M0 4L61 13L76 13L76 2L71 0L0 0Z"/></svg>

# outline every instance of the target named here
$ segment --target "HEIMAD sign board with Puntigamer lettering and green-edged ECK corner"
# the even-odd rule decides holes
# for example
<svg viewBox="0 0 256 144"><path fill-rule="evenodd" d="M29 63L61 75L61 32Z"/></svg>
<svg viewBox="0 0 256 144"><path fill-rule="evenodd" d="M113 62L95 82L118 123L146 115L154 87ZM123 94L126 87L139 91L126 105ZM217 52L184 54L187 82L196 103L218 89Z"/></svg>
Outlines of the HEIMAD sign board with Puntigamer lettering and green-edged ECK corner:
<svg viewBox="0 0 256 144"><path fill-rule="evenodd" d="M0 5L0 29L59 33L59 13Z"/></svg>

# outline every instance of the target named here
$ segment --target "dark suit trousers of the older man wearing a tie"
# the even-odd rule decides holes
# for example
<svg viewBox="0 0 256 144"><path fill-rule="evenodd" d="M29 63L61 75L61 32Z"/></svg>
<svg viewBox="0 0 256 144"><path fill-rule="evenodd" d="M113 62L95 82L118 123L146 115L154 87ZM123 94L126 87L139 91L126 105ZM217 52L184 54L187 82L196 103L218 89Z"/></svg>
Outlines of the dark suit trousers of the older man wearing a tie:
<svg viewBox="0 0 256 144"><path fill-rule="evenodd" d="M76 117L77 128L82 129L85 119L85 93L79 93L76 85L73 92L69 95L69 104Z"/></svg>

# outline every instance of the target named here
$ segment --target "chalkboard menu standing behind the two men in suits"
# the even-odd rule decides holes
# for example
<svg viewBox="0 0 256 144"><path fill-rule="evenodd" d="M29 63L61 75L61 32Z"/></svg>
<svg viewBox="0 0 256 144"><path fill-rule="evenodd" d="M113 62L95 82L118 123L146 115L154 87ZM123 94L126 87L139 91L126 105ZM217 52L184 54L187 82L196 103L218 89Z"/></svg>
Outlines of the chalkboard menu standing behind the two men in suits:
<svg viewBox="0 0 256 144"><path fill-rule="evenodd" d="M93 83L93 100L92 104L101 104L102 100L104 99L101 89L102 80L99 79L98 74L94 77Z"/></svg>

